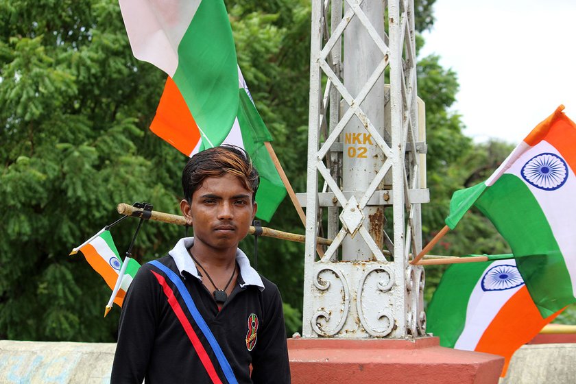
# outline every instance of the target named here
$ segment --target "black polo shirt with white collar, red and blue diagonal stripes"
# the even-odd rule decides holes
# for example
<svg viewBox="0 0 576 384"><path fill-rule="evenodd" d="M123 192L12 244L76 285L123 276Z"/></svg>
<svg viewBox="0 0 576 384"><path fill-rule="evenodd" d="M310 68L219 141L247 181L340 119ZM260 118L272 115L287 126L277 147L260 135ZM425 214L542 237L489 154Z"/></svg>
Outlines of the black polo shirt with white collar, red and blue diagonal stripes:
<svg viewBox="0 0 576 384"><path fill-rule="evenodd" d="M231 373L238 383L290 383L276 285L254 275L239 251L237 284L218 311L195 266L183 258L182 248L189 248L191 241L182 239L172 256L158 259L160 267L142 265L132 281L120 316L111 383L141 383L144 378L147 384L228 383L233 382L228 381ZM175 278L180 283L174 283ZM182 294L178 285L189 293L221 352L195 321L187 293ZM222 359L228 361L228 370Z"/></svg>

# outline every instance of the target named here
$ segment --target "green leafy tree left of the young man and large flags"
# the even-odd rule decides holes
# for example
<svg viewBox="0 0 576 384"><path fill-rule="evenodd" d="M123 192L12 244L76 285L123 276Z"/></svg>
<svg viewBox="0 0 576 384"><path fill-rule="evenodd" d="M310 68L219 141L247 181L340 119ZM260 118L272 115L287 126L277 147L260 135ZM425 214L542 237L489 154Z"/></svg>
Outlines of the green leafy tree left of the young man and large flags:
<svg viewBox="0 0 576 384"><path fill-rule="evenodd" d="M176 212L185 159L147 129L164 76L133 58L117 1L2 1L0 25L0 338L110 341L110 291L67 254L119 202ZM136 224L112 231L121 252ZM136 259L177 230L145 225Z"/></svg>

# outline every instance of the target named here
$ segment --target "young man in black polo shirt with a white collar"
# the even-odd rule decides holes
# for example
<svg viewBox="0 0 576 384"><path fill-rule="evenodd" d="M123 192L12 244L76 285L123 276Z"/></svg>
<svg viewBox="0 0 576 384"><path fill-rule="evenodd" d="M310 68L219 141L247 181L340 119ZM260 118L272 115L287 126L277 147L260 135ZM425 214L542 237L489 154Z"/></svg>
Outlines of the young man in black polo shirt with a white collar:
<svg viewBox="0 0 576 384"><path fill-rule="evenodd" d="M256 214L258 184L235 147L189 160L180 208L194 237L132 281L111 383L290 383L280 293L238 248Z"/></svg>

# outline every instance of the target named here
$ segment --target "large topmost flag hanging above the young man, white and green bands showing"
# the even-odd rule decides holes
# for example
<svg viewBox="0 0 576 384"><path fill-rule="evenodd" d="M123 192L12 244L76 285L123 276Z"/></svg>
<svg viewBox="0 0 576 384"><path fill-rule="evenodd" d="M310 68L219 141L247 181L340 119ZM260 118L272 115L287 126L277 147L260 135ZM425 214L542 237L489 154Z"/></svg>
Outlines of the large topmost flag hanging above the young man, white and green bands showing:
<svg viewBox="0 0 576 384"><path fill-rule="evenodd" d="M239 104L236 49L224 1L120 0L120 8L134 56L173 79L204 146L220 145Z"/></svg>

